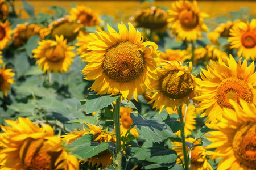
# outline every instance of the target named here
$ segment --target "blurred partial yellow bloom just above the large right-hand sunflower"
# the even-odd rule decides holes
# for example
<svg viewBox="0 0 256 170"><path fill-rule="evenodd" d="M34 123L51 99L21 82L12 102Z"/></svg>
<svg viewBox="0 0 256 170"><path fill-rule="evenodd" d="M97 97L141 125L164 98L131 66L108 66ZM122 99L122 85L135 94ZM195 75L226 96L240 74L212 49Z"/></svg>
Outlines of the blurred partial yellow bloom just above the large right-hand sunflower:
<svg viewBox="0 0 256 170"><path fill-rule="evenodd" d="M222 52L221 50L214 48L214 46L207 45L201 48L197 48L195 50L195 58L194 58L194 64L196 65L198 61L206 61L209 60L216 61L218 58L221 57L222 61L227 63L228 54L225 52Z"/></svg>

